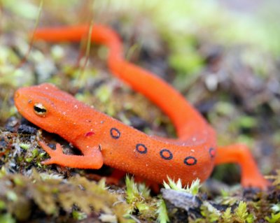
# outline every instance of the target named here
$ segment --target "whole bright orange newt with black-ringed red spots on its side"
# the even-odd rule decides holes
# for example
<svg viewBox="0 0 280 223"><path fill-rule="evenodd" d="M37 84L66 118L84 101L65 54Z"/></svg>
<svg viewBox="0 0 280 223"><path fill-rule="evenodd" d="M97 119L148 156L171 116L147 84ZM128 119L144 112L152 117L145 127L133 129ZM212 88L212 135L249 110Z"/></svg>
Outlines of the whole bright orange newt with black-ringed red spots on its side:
<svg viewBox="0 0 280 223"><path fill-rule="evenodd" d="M35 39L80 41L88 26L38 29ZM15 106L30 122L71 142L83 155L69 155L40 142L50 159L43 164L72 168L101 168L103 164L141 178L162 183L167 176L183 185L209 178L214 165L237 163L244 187L268 185L245 145L219 148L216 133L179 92L150 71L127 62L118 35L109 27L94 25L91 41L109 48L108 66L118 78L159 106L172 120L178 139L148 136L77 101L48 83L15 92Z"/></svg>

